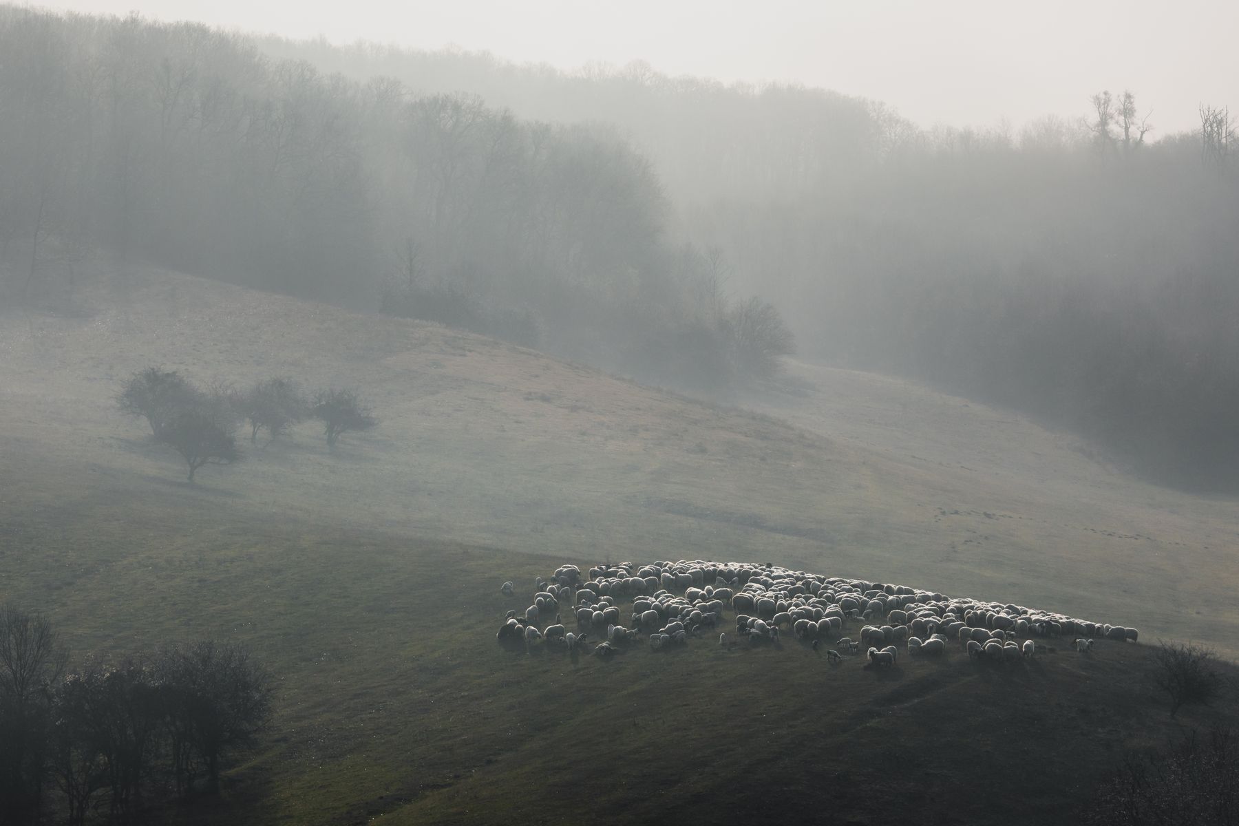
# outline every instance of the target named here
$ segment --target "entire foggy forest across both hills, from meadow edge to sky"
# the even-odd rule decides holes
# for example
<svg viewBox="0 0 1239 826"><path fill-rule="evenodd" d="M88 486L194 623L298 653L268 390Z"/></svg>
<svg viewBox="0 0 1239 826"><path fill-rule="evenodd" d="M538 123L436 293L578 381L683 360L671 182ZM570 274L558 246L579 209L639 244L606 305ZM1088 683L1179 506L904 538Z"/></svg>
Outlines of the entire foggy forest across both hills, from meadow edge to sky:
<svg viewBox="0 0 1239 826"><path fill-rule="evenodd" d="M769 375L794 334L1158 480L1239 484L1224 102L1175 135L1150 128L1158 102L1090 89L1074 120L921 129L641 63L15 7L0 53L9 295L105 249L715 391Z"/></svg>

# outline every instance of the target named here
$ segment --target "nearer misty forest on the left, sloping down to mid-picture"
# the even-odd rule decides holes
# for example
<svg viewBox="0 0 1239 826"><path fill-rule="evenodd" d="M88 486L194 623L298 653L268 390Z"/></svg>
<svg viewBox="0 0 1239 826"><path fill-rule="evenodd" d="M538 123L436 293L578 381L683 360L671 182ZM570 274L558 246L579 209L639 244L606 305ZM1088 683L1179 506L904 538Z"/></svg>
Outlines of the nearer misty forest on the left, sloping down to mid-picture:
<svg viewBox="0 0 1239 826"><path fill-rule="evenodd" d="M201 25L0 6L0 255L28 295L92 249L721 388L774 338L667 233L605 125L323 74ZM766 310L778 321L777 313Z"/></svg>

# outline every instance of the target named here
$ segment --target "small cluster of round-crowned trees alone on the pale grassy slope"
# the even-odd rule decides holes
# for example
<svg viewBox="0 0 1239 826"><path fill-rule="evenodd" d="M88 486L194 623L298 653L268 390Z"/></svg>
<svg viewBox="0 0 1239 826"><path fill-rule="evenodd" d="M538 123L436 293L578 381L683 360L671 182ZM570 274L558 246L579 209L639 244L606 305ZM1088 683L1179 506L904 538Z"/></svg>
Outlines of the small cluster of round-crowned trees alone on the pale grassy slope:
<svg viewBox="0 0 1239 826"><path fill-rule="evenodd" d="M116 395L123 414L145 419L151 435L175 450L188 467L188 480L206 464L232 464L242 458L235 430L249 427L250 443L258 445L265 430L274 441L306 419L322 422L327 447L351 431L378 425L370 406L347 388L330 388L307 396L301 385L284 376L254 383L245 390L217 385L195 386L176 370L147 367L126 379Z"/></svg>

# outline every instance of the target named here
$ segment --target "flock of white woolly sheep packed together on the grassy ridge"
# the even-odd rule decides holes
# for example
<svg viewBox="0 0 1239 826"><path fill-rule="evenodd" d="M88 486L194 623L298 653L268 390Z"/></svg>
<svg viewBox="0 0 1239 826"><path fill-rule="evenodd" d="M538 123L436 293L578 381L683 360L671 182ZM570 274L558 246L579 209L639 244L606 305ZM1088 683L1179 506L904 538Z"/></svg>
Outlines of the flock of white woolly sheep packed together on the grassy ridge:
<svg viewBox="0 0 1239 826"><path fill-rule="evenodd" d="M538 577L535 586L533 604L508 612L497 634L501 643L528 649L540 640L574 653L592 644L593 654L608 658L620 646L646 638L653 650L662 650L707 632L712 637L727 608L736 625L733 634L719 633L724 648L737 645L733 638L752 645L776 643L788 630L814 650L823 643L833 645L826 650L831 663L864 648L872 666L895 665L901 644L909 655L933 656L958 641L970 658L1020 660L1044 650L1033 638L1066 635L1080 654L1093 649L1094 637L1139 638L1135 628L1022 606L751 562L622 562L591 567L587 576L565 565L549 580ZM512 582L504 582L501 591L515 596ZM623 625L621 604L628 601L632 609ZM565 611L575 630L564 623ZM849 623L861 623L859 633L852 632L856 639L843 635ZM591 643L591 635L603 639Z"/></svg>

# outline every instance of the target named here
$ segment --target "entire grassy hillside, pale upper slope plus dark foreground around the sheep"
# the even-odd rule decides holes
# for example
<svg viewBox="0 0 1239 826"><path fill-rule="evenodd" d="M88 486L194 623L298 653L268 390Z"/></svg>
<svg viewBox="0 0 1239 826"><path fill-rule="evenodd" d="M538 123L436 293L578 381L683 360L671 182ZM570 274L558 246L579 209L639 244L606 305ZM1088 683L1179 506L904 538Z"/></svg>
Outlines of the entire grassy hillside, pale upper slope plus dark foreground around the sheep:
<svg viewBox="0 0 1239 826"><path fill-rule="evenodd" d="M1144 645L876 674L790 640L612 663L494 643L524 604L507 578L528 596L564 561L700 556L1234 653L1233 503L1139 485L996 411L798 365L774 419L159 271L100 275L76 307L0 317L0 597L46 609L78 658L216 637L279 679L224 799L162 820L1061 822L1123 748L1230 713L1172 722ZM382 425L335 454L306 425L188 485L112 402L151 363L348 384Z"/></svg>

